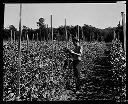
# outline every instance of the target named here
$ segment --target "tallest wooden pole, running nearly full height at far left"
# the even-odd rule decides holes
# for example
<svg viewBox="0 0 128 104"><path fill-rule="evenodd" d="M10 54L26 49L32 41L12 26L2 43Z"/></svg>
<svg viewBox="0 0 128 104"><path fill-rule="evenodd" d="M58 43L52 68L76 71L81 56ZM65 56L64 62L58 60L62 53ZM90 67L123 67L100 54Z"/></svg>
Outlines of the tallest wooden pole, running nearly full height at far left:
<svg viewBox="0 0 128 104"><path fill-rule="evenodd" d="M18 72L17 72L17 100L19 101L20 98L20 71L21 71L21 10L22 10L22 4L20 4L20 21L19 21L19 42L18 42Z"/></svg>

